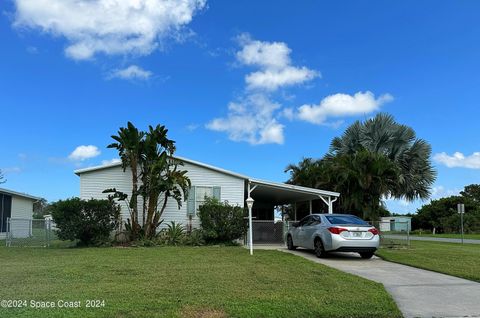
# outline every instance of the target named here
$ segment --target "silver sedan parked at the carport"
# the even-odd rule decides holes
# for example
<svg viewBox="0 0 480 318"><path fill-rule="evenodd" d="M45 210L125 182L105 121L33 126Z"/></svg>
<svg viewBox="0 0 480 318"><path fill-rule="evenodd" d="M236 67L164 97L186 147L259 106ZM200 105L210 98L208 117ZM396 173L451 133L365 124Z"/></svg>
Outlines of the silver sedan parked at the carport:
<svg viewBox="0 0 480 318"><path fill-rule="evenodd" d="M378 230L349 214L311 214L294 223L287 233L289 250L315 250L317 257L328 252L357 252L371 258L380 244Z"/></svg>

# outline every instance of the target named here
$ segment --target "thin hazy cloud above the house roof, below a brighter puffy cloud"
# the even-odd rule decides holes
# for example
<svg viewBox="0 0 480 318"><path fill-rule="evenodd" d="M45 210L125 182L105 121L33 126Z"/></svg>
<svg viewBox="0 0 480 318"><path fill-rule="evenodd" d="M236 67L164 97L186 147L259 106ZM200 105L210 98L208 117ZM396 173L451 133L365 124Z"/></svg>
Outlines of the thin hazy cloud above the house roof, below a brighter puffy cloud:
<svg viewBox="0 0 480 318"><path fill-rule="evenodd" d="M238 103L230 103L226 118L216 118L206 127L228 133L231 140L252 145L283 144L284 126L275 119L280 107L263 94L248 95Z"/></svg>

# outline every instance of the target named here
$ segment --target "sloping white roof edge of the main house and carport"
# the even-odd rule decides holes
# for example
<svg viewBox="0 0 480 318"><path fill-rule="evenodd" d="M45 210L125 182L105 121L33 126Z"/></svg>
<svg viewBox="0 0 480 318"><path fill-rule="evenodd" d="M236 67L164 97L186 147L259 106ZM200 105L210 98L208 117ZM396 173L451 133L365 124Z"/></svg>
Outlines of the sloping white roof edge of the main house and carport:
<svg viewBox="0 0 480 318"><path fill-rule="evenodd" d="M277 190L278 195L281 194L281 192L295 192L295 193L301 193L305 195L305 197L310 198L311 196L315 196L318 198L319 196L333 196L333 197L338 197L340 196L340 193L338 192L332 192L332 191L325 191L325 190L319 190L319 189L314 189L314 188L307 188L307 187L301 187L293 184L287 184L287 183L282 183L282 182L272 182L272 181L265 181L265 180L260 180L256 178L251 178L249 176L239 174L230 170L218 168L203 162L191 160L188 158L183 158L183 157L178 157L175 156L173 157L175 159L181 160L186 163L190 163L199 167L203 167L209 170L217 171L226 175L230 175L233 177L237 177L239 179L243 179L245 181L250 182L252 185L259 185L263 188L262 192L264 192L265 195L268 195L268 189L271 190ZM86 172L93 172L93 171L98 171L98 170L103 170L103 169L108 169L112 167L120 167L122 165L121 162L115 162L115 163L109 163L106 165L101 165L101 166L95 166L95 167L89 167L89 168L84 168L84 169L78 169L75 170L76 175L81 175L82 173ZM280 191L278 191L280 190ZM282 191L283 190L283 191ZM256 190L258 192L258 190Z"/></svg>

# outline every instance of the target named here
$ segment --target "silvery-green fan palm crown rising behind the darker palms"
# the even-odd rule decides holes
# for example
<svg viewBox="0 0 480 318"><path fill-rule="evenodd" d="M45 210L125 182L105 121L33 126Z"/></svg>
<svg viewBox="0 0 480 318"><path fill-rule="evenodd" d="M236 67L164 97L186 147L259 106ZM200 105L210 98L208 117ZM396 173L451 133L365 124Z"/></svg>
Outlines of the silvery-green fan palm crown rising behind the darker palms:
<svg viewBox="0 0 480 318"><path fill-rule="evenodd" d="M397 182L389 191L392 197L411 201L430 196L436 179L430 162L431 147L425 140L416 138L412 128L398 124L388 114L357 121L341 137L333 139L328 157L362 150L383 155L398 167Z"/></svg>

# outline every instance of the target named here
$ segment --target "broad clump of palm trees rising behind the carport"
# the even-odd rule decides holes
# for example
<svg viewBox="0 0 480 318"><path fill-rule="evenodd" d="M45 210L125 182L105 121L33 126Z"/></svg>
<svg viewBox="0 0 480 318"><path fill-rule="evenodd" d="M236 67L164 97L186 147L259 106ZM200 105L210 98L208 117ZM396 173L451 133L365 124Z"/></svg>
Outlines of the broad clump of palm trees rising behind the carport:
<svg viewBox="0 0 480 318"><path fill-rule="evenodd" d="M417 139L412 128L378 114L355 122L334 138L322 159L289 165L287 182L338 191L340 209L362 211L360 215L375 220L388 212L382 207L383 198L429 197L436 178L430 155L430 145Z"/></svg>

